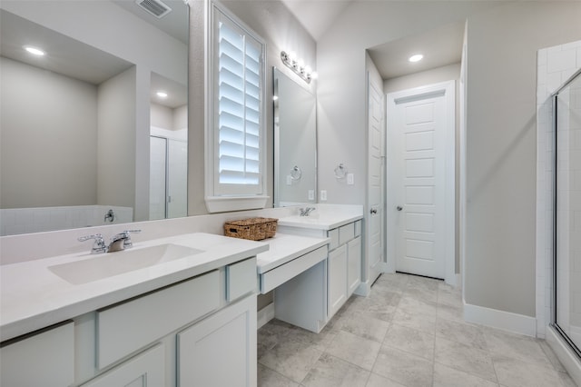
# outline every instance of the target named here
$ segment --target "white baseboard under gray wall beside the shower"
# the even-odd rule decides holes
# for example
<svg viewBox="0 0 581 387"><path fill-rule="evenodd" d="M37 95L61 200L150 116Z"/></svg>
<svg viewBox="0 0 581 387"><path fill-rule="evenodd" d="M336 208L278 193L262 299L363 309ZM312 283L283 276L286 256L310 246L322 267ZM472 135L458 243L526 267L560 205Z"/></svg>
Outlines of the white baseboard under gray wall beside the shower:
<svg viewBox="0 0 581 387"><path fill-rule="evenodd" d="M537 336L537 319L524 314L490 309L484 306L464 303L464 320L479 323L503 331L516 332L527 336Z"/></svg>

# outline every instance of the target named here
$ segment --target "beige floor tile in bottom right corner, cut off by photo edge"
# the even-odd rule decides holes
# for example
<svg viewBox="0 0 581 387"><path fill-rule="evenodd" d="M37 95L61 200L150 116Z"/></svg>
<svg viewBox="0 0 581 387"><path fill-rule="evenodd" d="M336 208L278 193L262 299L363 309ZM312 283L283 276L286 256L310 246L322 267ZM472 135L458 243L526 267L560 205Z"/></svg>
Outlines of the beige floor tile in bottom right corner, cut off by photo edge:
<svg viewBox="0 0 581 387"><path fill-rule="evenodd" d="M495 355L494 367L498 382L506 387L557 387L563 383L551 366L522 362L507 356Z"/></svg>

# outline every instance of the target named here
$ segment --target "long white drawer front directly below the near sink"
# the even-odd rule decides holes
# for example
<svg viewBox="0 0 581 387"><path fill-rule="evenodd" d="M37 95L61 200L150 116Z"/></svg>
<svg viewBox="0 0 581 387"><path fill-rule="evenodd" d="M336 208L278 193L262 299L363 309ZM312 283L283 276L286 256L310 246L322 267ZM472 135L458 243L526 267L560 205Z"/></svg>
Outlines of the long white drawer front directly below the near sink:
<svg viewBox="0 0 581 387"><path fill-rule="evenodd" d="M202 274L97 312L97 367L116 362L220 306L220 275Z"/></svg>

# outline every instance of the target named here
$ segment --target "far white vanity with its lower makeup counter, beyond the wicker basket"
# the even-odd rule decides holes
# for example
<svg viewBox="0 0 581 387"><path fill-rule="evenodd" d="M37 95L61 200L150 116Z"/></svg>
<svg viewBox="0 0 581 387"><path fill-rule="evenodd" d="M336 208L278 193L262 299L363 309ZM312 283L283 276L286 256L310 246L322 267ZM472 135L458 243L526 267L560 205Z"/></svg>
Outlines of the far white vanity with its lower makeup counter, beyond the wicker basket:
<svg viewBox="0 0 581 387"><path fill-rule="evenodd" d="M274 291L277 319L320 332L347 302L361 282L361 219L355 205L279 219L278 238L258 257L260 291Z"/></svg>

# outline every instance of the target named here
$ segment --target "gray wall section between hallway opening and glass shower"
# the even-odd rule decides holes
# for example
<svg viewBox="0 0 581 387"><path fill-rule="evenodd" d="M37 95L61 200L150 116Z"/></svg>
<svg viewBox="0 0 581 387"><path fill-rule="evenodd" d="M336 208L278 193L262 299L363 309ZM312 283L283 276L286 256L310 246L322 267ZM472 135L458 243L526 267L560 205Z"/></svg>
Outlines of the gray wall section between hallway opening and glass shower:
<svg viewBox="0 0 581 387"><path fill-rule="evenodd" d="M466 302L535 316L537 50L581 37L581 3L468 18Z"/></svg>

